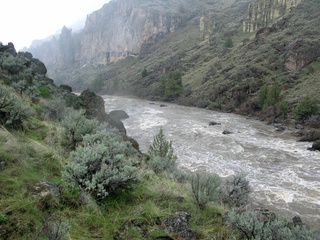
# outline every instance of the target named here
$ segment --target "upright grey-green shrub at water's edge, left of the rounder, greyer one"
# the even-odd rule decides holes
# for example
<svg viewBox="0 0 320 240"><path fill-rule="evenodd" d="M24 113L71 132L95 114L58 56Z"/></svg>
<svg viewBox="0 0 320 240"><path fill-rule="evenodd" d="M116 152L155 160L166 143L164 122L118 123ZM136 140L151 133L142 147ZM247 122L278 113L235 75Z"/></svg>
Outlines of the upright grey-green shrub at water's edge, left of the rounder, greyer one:
<svg viewBox="0 0 320 240"><path fill-rule="evenodd" d="M207 203L216 201L221 194L221 179L214 173L196 172L190 177L192 193L199 207L203 209Z"/></svg>

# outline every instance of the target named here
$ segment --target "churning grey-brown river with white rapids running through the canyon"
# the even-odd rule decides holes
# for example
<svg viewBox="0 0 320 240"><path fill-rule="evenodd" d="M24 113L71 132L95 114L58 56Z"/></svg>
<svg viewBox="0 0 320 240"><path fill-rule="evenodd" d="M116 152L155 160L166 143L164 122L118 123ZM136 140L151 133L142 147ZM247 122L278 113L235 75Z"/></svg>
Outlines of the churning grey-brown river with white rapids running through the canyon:
<svg viewBox="0 0 320 240"><path fill-rule="evenodd" d="M205 109L103 96L106 112L124 110L127 135L147 152L163 127L181 169L208 171L227 177L244 172L253 189L251 201L288 217L299 215L320 227L320 152L307 150L290 130L243 116ZM210 121L221 125L209 126ZM224 135L228 130L232 134Z"/></svg>

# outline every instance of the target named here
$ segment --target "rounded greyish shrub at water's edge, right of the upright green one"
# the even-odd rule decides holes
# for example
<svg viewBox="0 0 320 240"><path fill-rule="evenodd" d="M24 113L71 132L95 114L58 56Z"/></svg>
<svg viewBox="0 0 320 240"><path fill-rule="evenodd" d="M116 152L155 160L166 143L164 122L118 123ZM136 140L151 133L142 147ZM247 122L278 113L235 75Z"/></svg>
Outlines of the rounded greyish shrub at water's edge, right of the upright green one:
<svg viewBox="0 0 320 240"><path fill-rule="evenodd" d="M223 200L229 206L244 206L248 203L250 192L249 181L244 174L238 173L224 184Z"/></svg>

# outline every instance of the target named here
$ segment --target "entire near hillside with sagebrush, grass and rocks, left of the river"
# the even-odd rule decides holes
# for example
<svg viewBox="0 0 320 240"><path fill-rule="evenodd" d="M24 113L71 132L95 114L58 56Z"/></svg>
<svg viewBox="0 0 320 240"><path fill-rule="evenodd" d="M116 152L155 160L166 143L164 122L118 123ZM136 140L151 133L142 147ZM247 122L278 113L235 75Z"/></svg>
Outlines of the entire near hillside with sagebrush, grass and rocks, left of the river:
<svg viewBox="0 0 320 240"><path fill-rule="evenodd" d="M248 205L243 175L179 170L162 130L142 154L125 117L0 44L0 239L319 239Z"/></svg>

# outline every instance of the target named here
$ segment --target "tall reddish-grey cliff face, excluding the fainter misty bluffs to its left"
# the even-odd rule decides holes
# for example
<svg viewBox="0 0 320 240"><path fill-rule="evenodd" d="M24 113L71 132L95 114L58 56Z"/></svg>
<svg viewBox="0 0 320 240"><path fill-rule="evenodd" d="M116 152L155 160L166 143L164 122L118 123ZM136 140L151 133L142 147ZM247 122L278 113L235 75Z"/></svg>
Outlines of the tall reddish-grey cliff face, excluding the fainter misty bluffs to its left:
<svg viewBox="0 0 320 240"><path fill-rule="evenodd" d="M173 32L181 22L139 1L118 0L87 18L81 38L81 61L106 64L127 55L138 55L150 37Z"/></svg>

